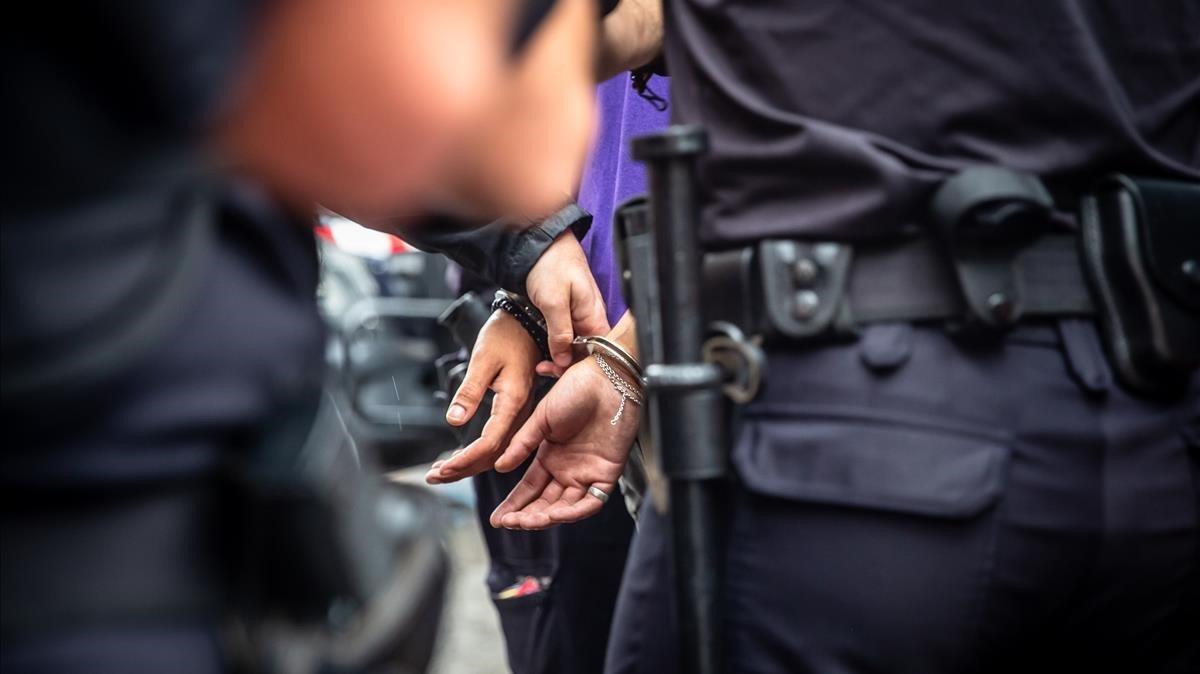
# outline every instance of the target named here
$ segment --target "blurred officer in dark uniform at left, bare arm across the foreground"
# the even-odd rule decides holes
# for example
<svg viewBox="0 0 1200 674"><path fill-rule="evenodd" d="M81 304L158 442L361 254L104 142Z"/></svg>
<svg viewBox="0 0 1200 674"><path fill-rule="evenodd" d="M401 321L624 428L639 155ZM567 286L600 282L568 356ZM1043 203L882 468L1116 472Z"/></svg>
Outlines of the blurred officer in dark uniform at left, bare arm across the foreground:
<svg viewBox="0 0 1200 674"><path fill-rule="evenodd" d="M235 589L222 566L246 514L222 512L223 469L320 385L312 204L557 204L587 145L592 12L230 0L11 13L5 672L224 668ZM570 114L547 114L547 80ZM530 144L512 161L530 128L553 152Z"/></svg>

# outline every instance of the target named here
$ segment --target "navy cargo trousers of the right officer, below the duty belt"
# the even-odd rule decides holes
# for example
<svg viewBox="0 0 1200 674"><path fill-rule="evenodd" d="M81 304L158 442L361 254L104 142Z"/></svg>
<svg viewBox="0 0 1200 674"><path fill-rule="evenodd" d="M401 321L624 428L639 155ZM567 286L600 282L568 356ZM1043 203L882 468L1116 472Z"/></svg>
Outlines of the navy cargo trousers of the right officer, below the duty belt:
<svg viewBox="0 0 1200 674"><path fill-rule="evenodd" d="M1112 386L1085 321L916 329L899 367L872 342L768 355L725 503L727 670L1200 670L1200 387ZM678 670L643 513L611 673Z"/></svg>

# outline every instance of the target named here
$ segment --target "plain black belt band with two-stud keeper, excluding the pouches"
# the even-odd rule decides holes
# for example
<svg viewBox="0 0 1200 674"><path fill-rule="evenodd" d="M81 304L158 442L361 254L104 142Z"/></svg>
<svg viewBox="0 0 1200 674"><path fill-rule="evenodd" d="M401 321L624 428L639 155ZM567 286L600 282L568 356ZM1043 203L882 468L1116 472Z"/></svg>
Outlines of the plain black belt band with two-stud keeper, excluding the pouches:
<svg viewBox="0 0 1200 674"><path fill-rule="evenodd" d="M1074 235L1043 235L1003 260L1004 283L972 288L1004 323L1094 313ZM932 237L856 245L764 240L704 258L706 308L746 335L800 339L875 323L970 323L972 306Z"/></svg>

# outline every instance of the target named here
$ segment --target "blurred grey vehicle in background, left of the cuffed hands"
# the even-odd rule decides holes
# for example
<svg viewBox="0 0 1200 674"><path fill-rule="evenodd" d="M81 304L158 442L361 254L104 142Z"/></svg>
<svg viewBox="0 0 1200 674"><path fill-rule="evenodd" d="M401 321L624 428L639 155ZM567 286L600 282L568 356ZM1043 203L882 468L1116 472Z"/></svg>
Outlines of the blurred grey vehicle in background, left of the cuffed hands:
<svg viewBox="0 0 1200 674"><path fill-rule="evenodd" d="M334 213L317 235L330 393L347 431L389 469L433 461L456 446L436 366L458 349L438 325L452 300L445 259Z"/></svg>

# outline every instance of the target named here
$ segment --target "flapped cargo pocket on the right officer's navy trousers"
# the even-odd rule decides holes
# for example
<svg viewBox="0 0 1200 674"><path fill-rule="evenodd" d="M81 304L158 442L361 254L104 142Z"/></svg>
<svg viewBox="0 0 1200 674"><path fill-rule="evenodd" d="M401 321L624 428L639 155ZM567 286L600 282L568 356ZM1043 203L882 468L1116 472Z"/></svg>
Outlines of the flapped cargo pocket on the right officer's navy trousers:
<svg viewBox="0 0 1200 674"><path fill-rule="evenodd" d="M734 668L968 670L1009 452L876 410L749 415L726 560Z"/></svg>

